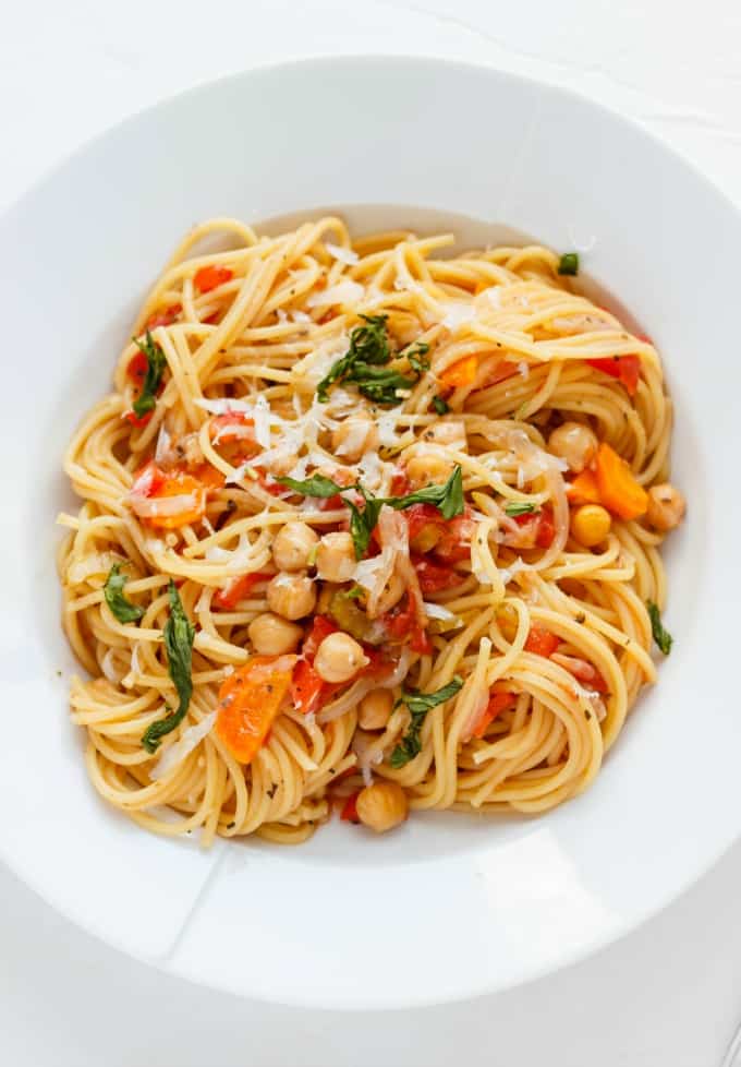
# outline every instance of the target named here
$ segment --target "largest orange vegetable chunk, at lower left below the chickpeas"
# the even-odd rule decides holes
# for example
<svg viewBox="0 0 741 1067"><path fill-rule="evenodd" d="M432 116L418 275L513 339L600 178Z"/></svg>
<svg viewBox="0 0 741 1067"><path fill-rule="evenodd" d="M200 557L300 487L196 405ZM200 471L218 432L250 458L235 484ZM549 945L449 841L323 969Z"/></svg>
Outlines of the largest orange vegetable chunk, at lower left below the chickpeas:
<svg viewBox="0 0 741 1067"><path fill-rule="evenodd" d="M219 690L216 733L241 764L254 759L291 685L295 656L253 656Z"/></svg>

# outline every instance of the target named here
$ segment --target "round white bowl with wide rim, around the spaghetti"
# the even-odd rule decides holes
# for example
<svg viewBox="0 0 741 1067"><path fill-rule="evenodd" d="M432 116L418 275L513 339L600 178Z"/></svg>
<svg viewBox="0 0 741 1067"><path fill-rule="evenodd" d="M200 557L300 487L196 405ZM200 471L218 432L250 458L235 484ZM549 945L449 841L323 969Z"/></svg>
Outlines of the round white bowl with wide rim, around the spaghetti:
<svg viewBox="0 0 741 1067"><path fill-rule="evenodd" d="M452 215L469 241L496 237L495 224L560 250L594 240L590 274L654 338L677 401L690 512L668 552L675 651L596 783L544 817L420 815L377 840L335 823L296 849L205 853L148 836L86 780L58 622L53 524L71 503L61 455L192 223L327 205L351 205L363 227ZM207 85L117 127L31 191L0 221L8 864L70 919L169 971L355 1008L512 986L687 888L741 826L740 238L718 192L633 125L439 60L312 61Z"/></svg>

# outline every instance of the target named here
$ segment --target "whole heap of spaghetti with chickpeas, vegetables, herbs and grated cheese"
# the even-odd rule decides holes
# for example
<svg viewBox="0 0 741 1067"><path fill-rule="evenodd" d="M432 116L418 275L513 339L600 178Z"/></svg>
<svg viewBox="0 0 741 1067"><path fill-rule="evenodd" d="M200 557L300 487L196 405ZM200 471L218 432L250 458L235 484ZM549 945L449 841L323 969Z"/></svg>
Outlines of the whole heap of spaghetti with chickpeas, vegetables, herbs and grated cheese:
<svg viewBox="0 0 741 1067"><path fill-rule="evenodd" d="M59 552L87 771L143 827L545 812L656 680L657 352L573 256L451 244L219 218L146 298Z"/></svg>

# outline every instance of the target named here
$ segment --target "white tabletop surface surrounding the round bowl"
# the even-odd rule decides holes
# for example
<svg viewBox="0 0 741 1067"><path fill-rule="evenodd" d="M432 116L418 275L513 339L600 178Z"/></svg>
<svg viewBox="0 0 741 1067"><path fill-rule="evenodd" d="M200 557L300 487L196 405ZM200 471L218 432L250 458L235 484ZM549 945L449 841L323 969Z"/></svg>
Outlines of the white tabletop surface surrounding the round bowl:
<svg viewBox="0 0 741 1067"><path fill-rule="evenodd" d="M0 13L0 208L163 96L255 63L360 51L470 58L568 85L641 121L741 206L737 0L25 0ZM3 715L20 710L33 715ZM0 867L0 1064L716 1067L741 1021L740 900L737 847L654 922L555 978L464 1005L341 1015L147 969Z"/></svg>

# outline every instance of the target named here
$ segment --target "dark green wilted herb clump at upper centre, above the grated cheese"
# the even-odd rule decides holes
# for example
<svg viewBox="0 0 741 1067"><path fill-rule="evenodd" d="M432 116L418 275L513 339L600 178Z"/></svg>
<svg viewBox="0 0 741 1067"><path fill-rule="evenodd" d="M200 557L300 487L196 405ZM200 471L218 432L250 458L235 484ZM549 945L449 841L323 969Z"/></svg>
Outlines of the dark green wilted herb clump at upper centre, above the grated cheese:
<svg viewBox="0 0 741 1067"><path fill-rule="evenodd" d="M414 377L388 367L393 358L386 328L388 315L361 315L361 319L365 325L355 326L350 334L350 348L317 385L316 395L321 404L327 403L331 386L340 382L355 385L359 393L375 404L396 404L397 392L413 388L422 374L429 370L429 360L423 358L429 345L424 341L415 343L408 351L399 353L406 359Z"/></svg>

